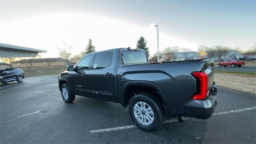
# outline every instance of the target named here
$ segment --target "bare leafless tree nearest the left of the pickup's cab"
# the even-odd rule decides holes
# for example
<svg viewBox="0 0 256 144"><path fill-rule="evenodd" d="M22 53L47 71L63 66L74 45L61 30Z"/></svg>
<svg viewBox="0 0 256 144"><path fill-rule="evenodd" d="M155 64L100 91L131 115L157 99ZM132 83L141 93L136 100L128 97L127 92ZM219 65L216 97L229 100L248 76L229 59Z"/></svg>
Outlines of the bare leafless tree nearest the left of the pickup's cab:
<svg viewBox="0 0 256 144"><path fill-rule="evenodd" d="M58 47L58 54L61 58L67 61L68 64L70 64L70 56L72 53L70 52L72 46L68 46L67 43L63 41L63 46Z"/></svg>

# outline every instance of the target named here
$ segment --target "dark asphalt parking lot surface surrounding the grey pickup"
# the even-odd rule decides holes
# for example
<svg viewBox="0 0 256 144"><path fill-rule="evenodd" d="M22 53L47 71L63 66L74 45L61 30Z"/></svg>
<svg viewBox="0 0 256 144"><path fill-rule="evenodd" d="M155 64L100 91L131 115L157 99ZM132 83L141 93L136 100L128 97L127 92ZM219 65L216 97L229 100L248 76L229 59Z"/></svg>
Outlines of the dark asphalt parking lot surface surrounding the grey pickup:
<svg viewBox="0 0 256 144"><path fill-rule="evenodd" d="M76 96L65 103L57 76L0 87L0 143L256 143L256 96L218 87L208 120L173 118L156 132L134 126L118 103Z"/></svg>

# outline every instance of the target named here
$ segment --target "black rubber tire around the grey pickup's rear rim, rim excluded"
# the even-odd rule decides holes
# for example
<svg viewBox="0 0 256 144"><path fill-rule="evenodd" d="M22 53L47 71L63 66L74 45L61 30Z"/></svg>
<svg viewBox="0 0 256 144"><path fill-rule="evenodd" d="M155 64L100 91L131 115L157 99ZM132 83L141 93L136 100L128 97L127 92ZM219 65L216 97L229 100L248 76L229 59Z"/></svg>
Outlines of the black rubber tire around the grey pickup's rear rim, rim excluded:
<svg viewBox="0 0 256 144"><path fill-rule="evenodd" d="M145 102L152 108L152 111L154 112L154 120L149 125L141 124L134 116L134 105L137 102ZM139 128L142 130L152 132L160 128L164 123L164 108L162 104L159 102L159 100L150 93L140 93L136 94L131 100L129 104L129 113L132 118L132 121L137 124ZM141 115L141 114L140 114ZM145 115L145 113L143 114Z"/></svg>

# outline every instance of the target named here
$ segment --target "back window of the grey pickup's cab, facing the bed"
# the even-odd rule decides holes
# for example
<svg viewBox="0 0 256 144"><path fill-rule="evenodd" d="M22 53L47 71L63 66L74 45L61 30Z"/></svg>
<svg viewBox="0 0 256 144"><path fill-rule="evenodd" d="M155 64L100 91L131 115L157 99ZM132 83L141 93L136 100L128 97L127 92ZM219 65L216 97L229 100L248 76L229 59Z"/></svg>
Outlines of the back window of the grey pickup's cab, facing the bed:
<svg viewBox="0 0 256 144"><path fill-rule="evenodd" d="M145 52L122 52L122 64L143 64L148 63Z"/></svg>

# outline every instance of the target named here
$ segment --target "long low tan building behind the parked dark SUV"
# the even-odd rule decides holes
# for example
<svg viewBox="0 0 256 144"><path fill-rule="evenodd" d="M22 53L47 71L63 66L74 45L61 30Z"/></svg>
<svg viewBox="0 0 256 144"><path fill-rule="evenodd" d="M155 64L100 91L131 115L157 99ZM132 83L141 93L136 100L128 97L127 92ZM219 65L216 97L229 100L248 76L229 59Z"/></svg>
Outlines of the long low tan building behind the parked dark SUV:
<svg viewBox="0 0 256 144"><path fill-rule="evenodd" d="M66 66L70 62L63 58L34 58L12 62L13 68L36 67L36 66Z"/></svg>

